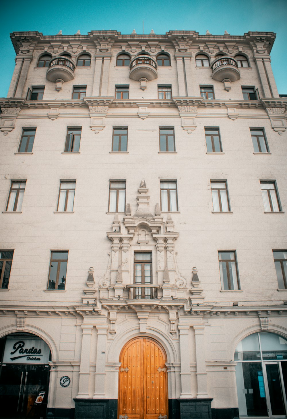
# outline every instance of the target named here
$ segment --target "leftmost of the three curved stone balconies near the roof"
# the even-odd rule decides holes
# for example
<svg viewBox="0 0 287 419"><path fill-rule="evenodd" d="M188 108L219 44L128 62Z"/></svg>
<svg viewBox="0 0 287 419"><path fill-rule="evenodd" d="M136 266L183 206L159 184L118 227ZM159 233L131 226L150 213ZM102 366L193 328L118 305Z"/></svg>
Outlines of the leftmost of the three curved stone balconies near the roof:
<svg viewBox="0 0 287 419"><path fill-rule="evenodd" d="M49 62L46 78L49 81L56 82L62 80L67 82L75 78L75 64L67 57L54 57Z"/></svg>

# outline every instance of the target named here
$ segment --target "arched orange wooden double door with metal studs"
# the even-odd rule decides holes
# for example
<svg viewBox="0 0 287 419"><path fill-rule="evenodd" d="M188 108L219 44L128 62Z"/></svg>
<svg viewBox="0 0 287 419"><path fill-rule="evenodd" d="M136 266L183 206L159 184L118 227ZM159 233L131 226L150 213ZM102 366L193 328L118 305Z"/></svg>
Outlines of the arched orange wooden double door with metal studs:
<svg viewBox="0 0 287 419"><path fill-rule="evenodd" d="M118 418L168 417L166 356L150 338L135 338L122 349L119 362Z"/></svg>

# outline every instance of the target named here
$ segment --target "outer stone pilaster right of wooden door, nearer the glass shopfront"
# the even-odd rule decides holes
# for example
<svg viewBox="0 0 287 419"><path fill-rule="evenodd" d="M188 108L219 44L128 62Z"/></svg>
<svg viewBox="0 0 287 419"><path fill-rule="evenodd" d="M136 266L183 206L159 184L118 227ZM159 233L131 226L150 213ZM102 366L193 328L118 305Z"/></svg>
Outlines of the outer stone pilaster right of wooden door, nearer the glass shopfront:
<svg viewBox="0 0 287 419"><path fill-rule="evenodd" d="M204 325L194 325L195 350L197 360L197 398L207 398L207 372L204 350Z"/></svg>

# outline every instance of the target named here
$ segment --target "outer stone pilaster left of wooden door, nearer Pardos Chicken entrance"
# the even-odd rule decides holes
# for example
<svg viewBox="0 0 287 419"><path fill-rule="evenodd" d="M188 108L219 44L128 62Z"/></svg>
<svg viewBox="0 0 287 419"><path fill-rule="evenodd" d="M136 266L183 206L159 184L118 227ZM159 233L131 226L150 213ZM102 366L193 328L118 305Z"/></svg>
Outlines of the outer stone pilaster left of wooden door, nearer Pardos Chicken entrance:
<svg viewBox="0 0 287 419"><path fill-rule="evenodd" d="M93 326L82 324L82 349L79 372L79 391L76 398L89 398L89 378L90 378L90 339Z"/></svg>

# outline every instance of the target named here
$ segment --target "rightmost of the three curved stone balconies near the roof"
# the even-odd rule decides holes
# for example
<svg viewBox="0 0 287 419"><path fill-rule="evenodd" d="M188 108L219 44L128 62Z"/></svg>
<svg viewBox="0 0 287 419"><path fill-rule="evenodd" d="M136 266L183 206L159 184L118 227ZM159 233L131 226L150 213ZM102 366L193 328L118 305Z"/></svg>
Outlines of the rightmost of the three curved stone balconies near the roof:
<svg viewBox="0 0 287 419"><path fill-rule="evenodd" d="M240 71L238 70L238 63L233 57L219 57L212 61L211 65L212 78L217 81L224 81L226 79L231 82L240 79Z"/></svg>

